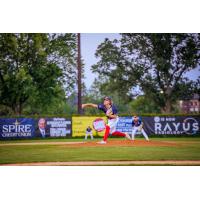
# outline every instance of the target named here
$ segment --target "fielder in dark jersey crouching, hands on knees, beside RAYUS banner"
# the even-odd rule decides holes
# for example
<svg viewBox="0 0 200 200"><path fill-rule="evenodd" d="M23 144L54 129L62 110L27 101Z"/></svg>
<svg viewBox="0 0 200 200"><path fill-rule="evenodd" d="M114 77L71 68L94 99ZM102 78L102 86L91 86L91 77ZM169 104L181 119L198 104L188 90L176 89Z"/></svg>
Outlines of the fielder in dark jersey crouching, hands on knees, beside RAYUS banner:
<svg viewBox="0 0 200 200"><path fill-rule="evenodd" d="M143 122L141 117L138 116L133 116L132 119L132 140L135 139L135 135L137 132L141 132L142 135L145 137L145 139L147 141L149 141L148 135L146 134L146 132L143 129Z"/></svg>

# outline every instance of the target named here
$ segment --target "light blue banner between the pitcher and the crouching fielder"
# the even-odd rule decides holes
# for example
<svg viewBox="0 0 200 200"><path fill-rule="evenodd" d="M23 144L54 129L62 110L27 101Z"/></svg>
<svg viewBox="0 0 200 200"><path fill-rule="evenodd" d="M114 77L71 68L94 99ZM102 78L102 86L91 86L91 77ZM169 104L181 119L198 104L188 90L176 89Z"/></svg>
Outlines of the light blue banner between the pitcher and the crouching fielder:
<svg viewBox="0 0 200 200"><path fill-rule="evenodd" d="M131 134L132 133L132 117L119 117L116 130L123 133Z"/></svg>

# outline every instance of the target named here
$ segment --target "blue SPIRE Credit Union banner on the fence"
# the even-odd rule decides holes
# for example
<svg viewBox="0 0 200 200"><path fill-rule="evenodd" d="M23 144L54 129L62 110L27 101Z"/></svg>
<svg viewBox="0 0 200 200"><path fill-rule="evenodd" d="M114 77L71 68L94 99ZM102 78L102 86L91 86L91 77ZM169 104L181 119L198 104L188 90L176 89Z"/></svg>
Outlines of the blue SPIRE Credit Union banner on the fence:
<svg viewBox="0 0 200 200"><path fill-rule="evenodd" d="M35 120L31 118L0 119L0 139L34 137Z"/></svg>

